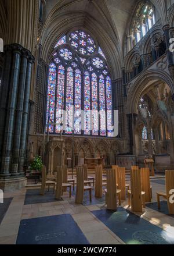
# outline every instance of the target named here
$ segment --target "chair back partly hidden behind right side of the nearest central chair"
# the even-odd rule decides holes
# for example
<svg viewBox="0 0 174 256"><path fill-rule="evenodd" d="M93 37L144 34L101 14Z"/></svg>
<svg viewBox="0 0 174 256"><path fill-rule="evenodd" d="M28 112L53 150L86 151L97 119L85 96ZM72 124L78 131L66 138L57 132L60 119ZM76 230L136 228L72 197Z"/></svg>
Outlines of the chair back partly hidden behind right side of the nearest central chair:
<svg viewBox="0 0 174 256"><path fill-rule="evenodd" d="M118 189L121 190L121 200L125 200L126 199L126 168L118 167L116 172L117 172Z"/></svg>

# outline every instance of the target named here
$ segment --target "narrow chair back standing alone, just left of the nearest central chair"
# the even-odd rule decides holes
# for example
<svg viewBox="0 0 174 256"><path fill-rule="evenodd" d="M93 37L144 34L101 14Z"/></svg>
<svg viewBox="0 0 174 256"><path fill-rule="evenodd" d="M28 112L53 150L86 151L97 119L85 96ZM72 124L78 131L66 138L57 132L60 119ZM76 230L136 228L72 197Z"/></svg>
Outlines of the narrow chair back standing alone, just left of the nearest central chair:
<svg viewBox="0 0 174 256"><path fill-rule="evenodd" d="M102 165L97 165L95 172L96 172L95 197L101 198L103 195Z"/></svg>

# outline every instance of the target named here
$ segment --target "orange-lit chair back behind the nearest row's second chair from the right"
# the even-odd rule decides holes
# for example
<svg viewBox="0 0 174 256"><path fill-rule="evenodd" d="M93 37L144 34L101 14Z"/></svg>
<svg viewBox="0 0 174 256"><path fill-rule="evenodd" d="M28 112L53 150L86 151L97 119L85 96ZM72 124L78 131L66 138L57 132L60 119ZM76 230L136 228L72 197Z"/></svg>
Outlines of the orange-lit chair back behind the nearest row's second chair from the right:
<svg viewBox="0 0 174 256"><path fill-rule="evenodd" d="M141 168L142 191L145 192L145 202L151 202L150 170Z"/></svg>

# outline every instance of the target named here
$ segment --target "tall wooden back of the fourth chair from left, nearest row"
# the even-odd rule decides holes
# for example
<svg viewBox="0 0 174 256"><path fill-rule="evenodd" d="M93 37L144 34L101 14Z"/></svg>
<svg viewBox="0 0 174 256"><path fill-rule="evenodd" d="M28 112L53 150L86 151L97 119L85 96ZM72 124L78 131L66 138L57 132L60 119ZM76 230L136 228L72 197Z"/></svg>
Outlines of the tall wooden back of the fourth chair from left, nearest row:
<svg viewBox="0 0 174 256"><path fill-rule="evenodd" d="M117 177L116 169L107 170L107 209L117 210Z"/></svg>

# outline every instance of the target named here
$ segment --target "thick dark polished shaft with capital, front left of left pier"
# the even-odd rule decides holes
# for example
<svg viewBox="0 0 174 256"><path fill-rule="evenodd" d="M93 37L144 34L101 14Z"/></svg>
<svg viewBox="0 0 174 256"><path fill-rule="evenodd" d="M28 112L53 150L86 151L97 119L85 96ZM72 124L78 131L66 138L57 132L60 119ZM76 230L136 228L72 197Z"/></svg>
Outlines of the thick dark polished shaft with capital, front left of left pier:
<svg viewBox="0 0 174 256"><path fill-rule="evenodd" d="M10 79L8 84L8 108L5 122L5 134L3 136L3 147L2 147L2 163L0 177L9 176L10 168L10 157L12 151L13 142L13 127L14 127L14 109L16 107L17 99L17 85L19 81L19 70L20 70L20 57L21 49L20 45L10 45L9 48L12 51L12 65L9 63ZM7 74L8 72L6 72ZM4 81L8 77L4 77ZM3 83L3 81L2 81Z"/></svg>

